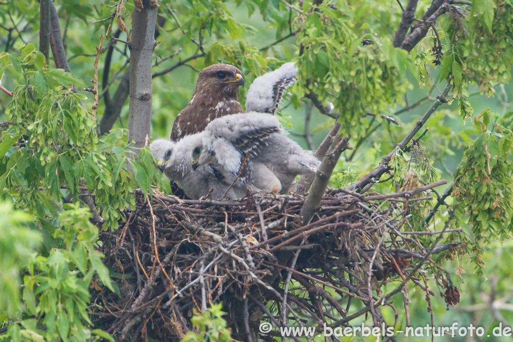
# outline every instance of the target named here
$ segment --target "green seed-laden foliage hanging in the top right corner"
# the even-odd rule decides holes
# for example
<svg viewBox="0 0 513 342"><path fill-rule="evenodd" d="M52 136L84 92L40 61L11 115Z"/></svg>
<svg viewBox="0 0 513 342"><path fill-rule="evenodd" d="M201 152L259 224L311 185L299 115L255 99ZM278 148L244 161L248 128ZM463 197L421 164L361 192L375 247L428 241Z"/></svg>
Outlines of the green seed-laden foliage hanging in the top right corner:
<svg viewBox="0 0 513 342"><path fill-rule="evenodd" d="M495 85L511 81L513 66L513 4L506 1L477 0L468 21L455 16L445 24L449 46L442 61L440 78L454 76L460 115L472 114L468 85L493 96Z"/></svg>

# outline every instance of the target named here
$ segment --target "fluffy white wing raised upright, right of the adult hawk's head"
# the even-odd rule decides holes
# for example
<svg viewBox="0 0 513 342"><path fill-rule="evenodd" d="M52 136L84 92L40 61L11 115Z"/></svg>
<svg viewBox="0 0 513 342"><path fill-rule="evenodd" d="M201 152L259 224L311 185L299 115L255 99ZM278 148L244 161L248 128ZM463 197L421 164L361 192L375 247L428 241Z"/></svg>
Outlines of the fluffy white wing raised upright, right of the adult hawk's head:
<svg viewBox="0 0 513 342"><path fill-rule="evenodd" d="M255 78L246 96L246 112L275 114L285 90L295 81L298 68L289 62Z"/></svg>

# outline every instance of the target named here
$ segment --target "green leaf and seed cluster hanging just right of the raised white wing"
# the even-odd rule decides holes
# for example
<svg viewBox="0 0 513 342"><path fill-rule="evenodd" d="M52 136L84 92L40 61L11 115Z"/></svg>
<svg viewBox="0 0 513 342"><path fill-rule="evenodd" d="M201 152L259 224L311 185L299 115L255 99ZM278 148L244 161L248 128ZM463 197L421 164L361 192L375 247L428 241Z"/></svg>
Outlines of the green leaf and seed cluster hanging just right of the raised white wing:
<svg viewBox="0 0 513 342"><path fill-rule="evenodd" d="M350 11L309 6L303 6L311 11L298 33L299 91L333 102L344 130L361 134L367 112L387 112L401 103L410 86L403 75L412 68L411 59L392 47L390 37L375 38L368 24L355 28ZM374 44L361 46L366 38Z"/></svg>

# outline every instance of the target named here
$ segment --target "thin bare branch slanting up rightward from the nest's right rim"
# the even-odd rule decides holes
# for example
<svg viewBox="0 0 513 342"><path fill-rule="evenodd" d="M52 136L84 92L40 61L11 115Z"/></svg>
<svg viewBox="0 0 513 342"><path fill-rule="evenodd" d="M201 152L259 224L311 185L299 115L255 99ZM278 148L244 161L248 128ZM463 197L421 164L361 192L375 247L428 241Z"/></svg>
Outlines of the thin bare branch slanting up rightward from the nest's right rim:
<svg viewBox="0 0 513 342"><path fill-rule="evenodd" d="M447 103L447 99L445 98L445 96L447 96L451 87L451 78L449 78L449 82L447 82L447 85L442 91L442 94L437 96L435 103L433 103L431 107L429 107L429 109L426 111L426 113L422 115L421 119L417 122L417 124L415 124L415 126L413 126L411 131L408 132L408 134L404 137L403 141L399 143L396 146L396 148L394 148L390 153L383 157L380 165L376 169L366 174L362 179L351 185L348 189L351 191L355 191L358 189L357 191L360 191L365 186L373 182L374 179L378 180L381 177L381 175L388 170L388 163L390 163L390 159L392 158L393 154L396 153L398 149L404 151L410 140L415 136L415 134L417 134L417 132L419 132L422 126L424 126L424 124L426 123L427 119L431 116L431 114L433 114L442 103Z"/></svg>

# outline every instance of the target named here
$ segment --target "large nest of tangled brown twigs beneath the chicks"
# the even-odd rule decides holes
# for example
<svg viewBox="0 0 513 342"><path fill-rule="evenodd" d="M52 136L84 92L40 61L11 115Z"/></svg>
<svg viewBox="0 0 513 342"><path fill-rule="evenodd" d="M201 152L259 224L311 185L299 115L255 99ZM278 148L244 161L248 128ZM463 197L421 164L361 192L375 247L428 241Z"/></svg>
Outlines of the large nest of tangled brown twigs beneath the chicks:
<svg viewBox="0 0 513 342"><path fill-rule="evenodd" d="M389 298L405 284L419 286L429 301L435 293L422 270L433 254L459 245L438 244L445 229L415 232L408 223L409 211L437 185L393 194L327 190L308 224L298 195L181 200L137 193L136 210L100 236L120 292L97 287L95 326L120 340L179 340L194 310L220 302L236 340L279 336L262 334L261 321L337 327L370 314L374 325L394 326L397 315L385 321L380 309L396 310ZM446 301L454 300L448 275L440 276Z"/></svg>

